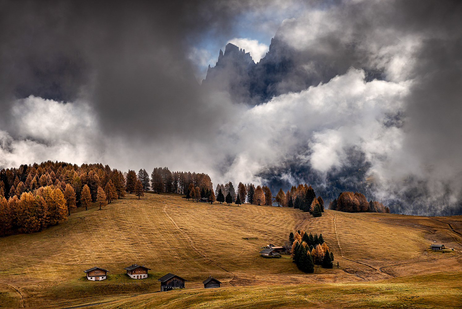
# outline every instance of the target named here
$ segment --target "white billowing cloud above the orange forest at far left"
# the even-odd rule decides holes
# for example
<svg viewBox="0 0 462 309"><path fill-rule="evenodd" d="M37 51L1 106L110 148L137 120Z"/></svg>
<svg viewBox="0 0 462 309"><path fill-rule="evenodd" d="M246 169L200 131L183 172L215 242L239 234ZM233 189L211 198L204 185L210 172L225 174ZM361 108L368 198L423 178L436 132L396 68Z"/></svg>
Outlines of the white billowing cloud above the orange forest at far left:
<svg viewBox="0 0 462 309"><path fill-rule="evenodd" d="M30 96L12 107L12 133L0 130L0 166L47 160L72 163L101 159L97 118L86 103Z"/></svg>

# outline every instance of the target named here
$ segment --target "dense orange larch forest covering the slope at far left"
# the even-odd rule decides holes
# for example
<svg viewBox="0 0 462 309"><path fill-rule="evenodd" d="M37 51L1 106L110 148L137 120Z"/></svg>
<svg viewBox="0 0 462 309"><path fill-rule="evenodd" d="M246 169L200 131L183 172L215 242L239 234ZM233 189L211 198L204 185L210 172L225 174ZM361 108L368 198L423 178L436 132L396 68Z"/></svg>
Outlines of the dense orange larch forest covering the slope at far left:
<svg viewBox="0 0 462 309"><path fill-rule="evenodd" d="M92 202L103 206L123 197L125 189L123 173L103 164L78 166L47 161L23 164L18 169L2 169L0 233L41 230L66 220L77 206L85 206L87 210ZM64 198L63 207L61 196ZM64 215L61 214L62 209L65 210Z"/></svg>

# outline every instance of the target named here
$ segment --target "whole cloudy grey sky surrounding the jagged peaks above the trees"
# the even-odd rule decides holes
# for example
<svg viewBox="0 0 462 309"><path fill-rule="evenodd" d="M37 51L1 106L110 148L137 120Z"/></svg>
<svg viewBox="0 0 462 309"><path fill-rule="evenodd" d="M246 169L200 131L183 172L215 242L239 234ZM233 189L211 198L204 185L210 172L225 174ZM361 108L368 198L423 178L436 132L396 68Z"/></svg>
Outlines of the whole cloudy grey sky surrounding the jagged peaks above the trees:
<svg viewBox="0 0 462 309"><path fill-rule="evenodd" d="M454 205L461 16L459 1L0 1L0 167L168 166L261 183L294 159L325 175L355 148L377 196L412 178L426 207L443 192ZM276 33L300 69L342 73L257 106L201 88L226 43L258 62Z"/></svg>

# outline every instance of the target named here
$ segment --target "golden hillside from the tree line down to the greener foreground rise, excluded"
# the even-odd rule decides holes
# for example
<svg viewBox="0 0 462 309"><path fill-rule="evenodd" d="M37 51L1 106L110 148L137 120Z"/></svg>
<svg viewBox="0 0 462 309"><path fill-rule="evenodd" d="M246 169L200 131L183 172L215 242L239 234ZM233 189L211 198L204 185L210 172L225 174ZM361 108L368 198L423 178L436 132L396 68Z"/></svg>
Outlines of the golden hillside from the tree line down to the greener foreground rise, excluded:
<svg viewBox="0 0 462 309"><path fill-rule="evenodd" d="M209 275L232 287L364 282L460 271L461 222L461 217L329 210L313 218L291 208L210 205L177 194L146 194L137 200L128 194L101 211L74 213L67 222L40 233L0 238L0 303L4 308L66 307L112 300L159 291L157 278L169 272L189 280L187 288L201 288ZM280 245L290 232L302 229L322 232L340 268L315 267L314 274L305 274L288 255L259 256L261 247ZM455 251L428 252L432 242ZM151 268L149 278L128 279L123 267L133 263ZM108 269L108 279L85 280L83 271L93 266Z"/></svg>

